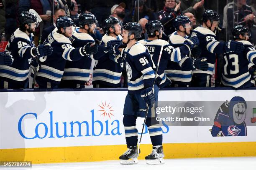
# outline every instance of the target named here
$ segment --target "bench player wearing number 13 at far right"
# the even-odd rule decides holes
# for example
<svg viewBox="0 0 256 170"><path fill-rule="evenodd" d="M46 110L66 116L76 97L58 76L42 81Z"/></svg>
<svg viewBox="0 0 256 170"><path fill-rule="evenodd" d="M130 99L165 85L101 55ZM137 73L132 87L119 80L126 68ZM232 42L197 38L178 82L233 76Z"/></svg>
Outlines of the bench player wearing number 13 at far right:
<svg viewBox="0 0 256 170"><path fill-rule="evenodd" d="M248 69L250 63L256 65L256 50L248 41L251 34L243 25L234 27L232 34L234 40L243 43L245 50L242 53L224 53L221 83L223 86L234 88L254 87L255 81Z"/></svg>

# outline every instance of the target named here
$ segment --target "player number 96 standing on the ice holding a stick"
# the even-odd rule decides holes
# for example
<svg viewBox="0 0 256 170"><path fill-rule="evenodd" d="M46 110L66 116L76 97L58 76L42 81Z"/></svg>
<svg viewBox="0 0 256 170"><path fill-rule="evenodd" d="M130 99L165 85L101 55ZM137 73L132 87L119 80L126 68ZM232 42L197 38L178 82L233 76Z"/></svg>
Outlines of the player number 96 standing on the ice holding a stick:
<svg viewBox="0 0 256 170"><path fill-rule="evenodd" d="M146 156L148 162L164 163L162 147L162 129L156 125L158 122L153 118L155 101L157 101L159 88L154 86L155 73L150 54L146 47L137 42L141 37L141 25L135 22L126 23L122 29L123 43L127 47L118 49L120 44L114 45L110 53L115 56L115 61L122 60L125 64L128 77L128 94L125 98L123 111L123 124L125 127L125 140L128 150L119 158L121 164L138 163L138 130L136 129L136 118L145 117L147 105L149 106L146 125L149 129L153 151ZM152 107L152 108L151 108Z"/></svg>

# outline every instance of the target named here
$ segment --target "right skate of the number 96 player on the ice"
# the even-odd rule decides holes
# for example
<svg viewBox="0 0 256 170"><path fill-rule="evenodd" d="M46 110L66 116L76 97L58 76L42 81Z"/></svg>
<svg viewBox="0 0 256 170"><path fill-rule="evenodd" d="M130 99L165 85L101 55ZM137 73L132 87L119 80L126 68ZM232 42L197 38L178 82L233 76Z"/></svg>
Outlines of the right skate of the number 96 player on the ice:
<svg viewBox="0 0 256 170"><path fill-rule="evenodd" d="M145 157L146 163L149 165L163 164L164 152L163 146L153 146L152 153Z"/></svg>

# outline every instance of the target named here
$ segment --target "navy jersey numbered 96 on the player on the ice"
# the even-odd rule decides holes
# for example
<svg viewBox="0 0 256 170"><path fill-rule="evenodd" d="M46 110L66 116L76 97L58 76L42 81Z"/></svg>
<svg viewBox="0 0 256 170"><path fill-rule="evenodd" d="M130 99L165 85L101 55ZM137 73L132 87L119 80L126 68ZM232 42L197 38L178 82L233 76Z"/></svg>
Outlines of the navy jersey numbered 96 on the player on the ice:
<svg viewBox="0 0 256 170"><path fill-rule="evenodd" d="M142 89L153 86L153 62L144 45L136 42L131 48L123 49L121 56L128 77L128 93L141 92Z"/></svg>

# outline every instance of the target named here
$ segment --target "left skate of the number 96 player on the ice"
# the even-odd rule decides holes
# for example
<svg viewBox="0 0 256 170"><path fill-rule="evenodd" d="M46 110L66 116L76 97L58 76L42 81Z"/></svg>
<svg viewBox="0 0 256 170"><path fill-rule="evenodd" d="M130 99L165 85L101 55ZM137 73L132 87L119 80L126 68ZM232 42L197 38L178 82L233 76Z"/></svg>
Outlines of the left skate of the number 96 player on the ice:
<svg viewBox="0 0 256 170"><path fill-rule="evenodd" d="M126 152L119 157L120 164L128 165L138 163L138 148L137 146L129 146Z"/></svg>

